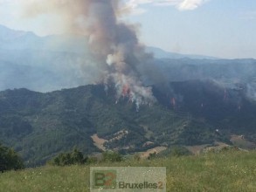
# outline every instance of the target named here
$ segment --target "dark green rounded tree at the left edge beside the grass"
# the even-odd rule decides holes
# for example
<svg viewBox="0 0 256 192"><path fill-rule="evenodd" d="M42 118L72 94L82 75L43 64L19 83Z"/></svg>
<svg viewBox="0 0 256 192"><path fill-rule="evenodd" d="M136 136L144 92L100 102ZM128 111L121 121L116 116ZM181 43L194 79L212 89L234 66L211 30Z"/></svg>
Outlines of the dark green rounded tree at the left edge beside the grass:
<svg viewBox="0 0 256 192"><path fill-rule="evenodd" d="M24 168L21 157L11 148L0 143L0 171L17 170Z"/></svg>

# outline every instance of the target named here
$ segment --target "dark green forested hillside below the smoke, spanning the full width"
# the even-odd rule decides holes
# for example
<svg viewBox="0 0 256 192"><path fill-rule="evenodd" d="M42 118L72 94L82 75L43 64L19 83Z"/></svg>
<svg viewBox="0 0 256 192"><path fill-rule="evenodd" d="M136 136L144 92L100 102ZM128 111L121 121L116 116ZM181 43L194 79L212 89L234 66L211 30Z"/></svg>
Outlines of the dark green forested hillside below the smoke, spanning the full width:
<svg viewBox="0 0 256 192"><path fill-rule="evenodd" d="M116 100L114 87L107 92L101 85L52 93L7 90L0 93L0 141L20 152L29 166L75 146L86 154L99 151L93 134L122 153L229 142L232 134L255 142L256 106L245 91L207 81L158 85L153 91L158 101L136 111L127 98Z"/></svg>

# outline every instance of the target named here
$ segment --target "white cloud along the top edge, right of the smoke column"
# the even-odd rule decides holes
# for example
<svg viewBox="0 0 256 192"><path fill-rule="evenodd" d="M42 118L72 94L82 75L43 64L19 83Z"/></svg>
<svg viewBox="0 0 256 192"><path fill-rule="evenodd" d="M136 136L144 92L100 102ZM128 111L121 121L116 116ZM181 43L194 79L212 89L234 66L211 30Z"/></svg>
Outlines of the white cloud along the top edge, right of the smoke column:
<svg viewBox="0 0 256 192"><path fill-rule="evenodd" d="M135 14L144 13L142 5L175 6L178 10L195 10L210 0L127 0L126 6Z"/></svg>

